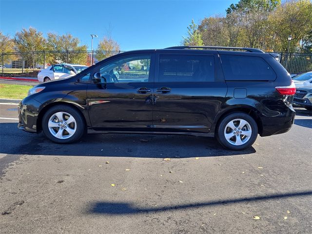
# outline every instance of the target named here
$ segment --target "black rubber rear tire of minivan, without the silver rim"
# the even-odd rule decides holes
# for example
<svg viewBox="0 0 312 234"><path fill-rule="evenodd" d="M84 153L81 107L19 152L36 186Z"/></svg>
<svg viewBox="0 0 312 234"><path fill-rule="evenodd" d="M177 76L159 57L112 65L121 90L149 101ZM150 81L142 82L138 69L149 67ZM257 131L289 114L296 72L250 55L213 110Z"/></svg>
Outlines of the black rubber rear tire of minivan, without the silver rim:
<svg viewBox="0 0 312 234"><path fill-rule="evenodd" d="M242 145L233 145L225 137L225 131L226 131L225 129L226 129L227 124L229 122L231 122L232 120L235 120L235 119L243 119L243 120L247 121L251 127L251 130L252 130L252 134L251 134L250 138L246 141L246 143L243 143ZM248 126L246 126L246 127L248 127ZM229 129L229 128L227 127L227 129ZM237 131L238 131L238 129L237 129ZM234 131L233 131L233 134L234 134ZM220 121L220 123L217 127L217 131L216 131L216 137L217 137L217 140L219 141L219 143L222 146L224 146L225 148L230 149L230 150L244 150L244 149L251 147L254 144L254 141L256 140L257 135L258 135L258 126L257 126L257 123L255 122L254 118L247 115L246 113L242 113L242 112L235 112L235 113L229 114L226 117L223 117L222 120ZM236 136L234 134L234 139L236 138ZM239 137L240 136L241 135L239 135ZM242 137L244 137L244 136L242 136Z"/></svg>

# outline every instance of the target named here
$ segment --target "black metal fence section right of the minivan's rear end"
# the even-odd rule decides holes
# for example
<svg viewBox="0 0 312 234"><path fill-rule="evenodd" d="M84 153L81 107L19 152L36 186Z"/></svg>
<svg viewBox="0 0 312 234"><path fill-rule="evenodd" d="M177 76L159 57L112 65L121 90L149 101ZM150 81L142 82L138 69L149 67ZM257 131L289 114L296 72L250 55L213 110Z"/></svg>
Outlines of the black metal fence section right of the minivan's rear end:
<svg viewBox="0 0 312 234"><path fill-rule="evenodd" d="M278 53L280 63L291 74L312 71L312 53Z"/></svg>

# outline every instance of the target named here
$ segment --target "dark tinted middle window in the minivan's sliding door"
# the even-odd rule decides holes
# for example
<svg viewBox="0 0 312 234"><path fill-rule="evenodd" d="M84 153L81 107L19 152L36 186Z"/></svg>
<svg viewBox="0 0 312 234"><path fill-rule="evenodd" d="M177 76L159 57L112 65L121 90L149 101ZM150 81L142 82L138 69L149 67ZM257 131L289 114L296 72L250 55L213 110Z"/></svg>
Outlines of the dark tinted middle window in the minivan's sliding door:
<svg viewBox="0 0 312 234"><path fill-rule="evenodd" d="M215 81L214 56L160 55L158 82Z"/></svg>

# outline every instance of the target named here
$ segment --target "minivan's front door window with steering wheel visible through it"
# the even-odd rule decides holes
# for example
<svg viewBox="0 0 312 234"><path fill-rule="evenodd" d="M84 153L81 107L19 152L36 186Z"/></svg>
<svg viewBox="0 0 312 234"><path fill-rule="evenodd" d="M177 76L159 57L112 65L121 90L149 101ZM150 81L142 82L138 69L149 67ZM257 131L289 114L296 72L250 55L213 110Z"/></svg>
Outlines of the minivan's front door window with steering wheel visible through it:
<svg viewBox="0 0 312 234"><path fill-rule="evenodd" d="M101 65L99 72L107 83L148 82L150 66L150 55L129 56Z"/></svg>

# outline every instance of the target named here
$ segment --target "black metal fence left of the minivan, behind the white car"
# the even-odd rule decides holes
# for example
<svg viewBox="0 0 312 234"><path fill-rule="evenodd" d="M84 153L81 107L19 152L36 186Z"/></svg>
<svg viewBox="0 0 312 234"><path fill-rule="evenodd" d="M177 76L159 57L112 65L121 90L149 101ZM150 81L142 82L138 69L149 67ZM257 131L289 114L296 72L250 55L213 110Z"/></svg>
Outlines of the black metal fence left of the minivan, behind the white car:
<svg viewBox="0 0 312 234"><path fill-rule="evenodd" d="M25 73L47 68L51 64L74 63L91 66L123 51L35 51L0 53L0 73Z"/></svg>

